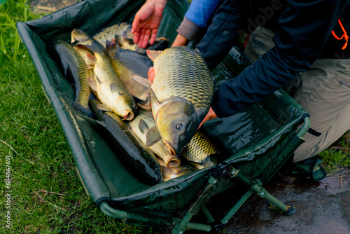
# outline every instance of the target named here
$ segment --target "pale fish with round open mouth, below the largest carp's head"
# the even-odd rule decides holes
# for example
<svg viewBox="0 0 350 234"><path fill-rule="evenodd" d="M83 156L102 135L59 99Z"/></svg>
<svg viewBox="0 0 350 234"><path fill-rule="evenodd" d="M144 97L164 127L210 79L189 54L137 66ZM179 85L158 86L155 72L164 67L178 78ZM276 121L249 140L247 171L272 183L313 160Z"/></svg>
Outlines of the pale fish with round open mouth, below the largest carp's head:
<svg viewBox="0 0 350 234"><path fill-rule="evenodd" d="M140 110L132 121L127 122L127 126L148 149L162 158L165 167L178 167L181 164L179 156L171 156L163 144L151 111Z"/></svg>

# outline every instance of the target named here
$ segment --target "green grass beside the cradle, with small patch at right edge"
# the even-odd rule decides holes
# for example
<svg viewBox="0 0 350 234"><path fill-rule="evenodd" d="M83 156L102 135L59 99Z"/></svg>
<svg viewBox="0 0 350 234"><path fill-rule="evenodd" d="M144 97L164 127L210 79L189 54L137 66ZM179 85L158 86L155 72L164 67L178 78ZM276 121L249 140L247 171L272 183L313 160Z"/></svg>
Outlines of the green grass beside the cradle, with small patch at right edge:
<svg viewBox="0 0 350 234"><path fill-rule="evenodd" d="M85 194L62 128L15 29L15 22L41 17L26 2L0 5L0 233L155 233L106 216ZM349 152L342 137L321 153L326 170L349 167ZM11 230L2 218L5 156L11 158Z"/></svg>

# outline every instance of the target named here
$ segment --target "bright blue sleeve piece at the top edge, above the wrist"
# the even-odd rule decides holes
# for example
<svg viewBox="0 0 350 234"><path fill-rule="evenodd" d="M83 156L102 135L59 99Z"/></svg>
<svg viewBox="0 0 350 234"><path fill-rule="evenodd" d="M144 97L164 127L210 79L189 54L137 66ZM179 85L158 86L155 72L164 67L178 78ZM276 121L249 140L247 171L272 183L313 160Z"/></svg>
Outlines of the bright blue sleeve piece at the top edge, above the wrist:
<svg viewBox="0 0 350 234"><path fill-rule="evenodd" d="M213 15L220 0L193 0L185 14L188 20L200 27L207 27L207 22Z"/></svg>

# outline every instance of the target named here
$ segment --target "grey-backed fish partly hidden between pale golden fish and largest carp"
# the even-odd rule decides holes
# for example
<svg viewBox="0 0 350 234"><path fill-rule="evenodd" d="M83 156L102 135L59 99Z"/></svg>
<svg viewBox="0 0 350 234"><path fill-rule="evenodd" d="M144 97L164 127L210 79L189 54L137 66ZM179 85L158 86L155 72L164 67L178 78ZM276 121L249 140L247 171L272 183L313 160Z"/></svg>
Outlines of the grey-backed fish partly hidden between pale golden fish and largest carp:
<svg viewBox="0 0 350 234"><path fill-rule="evenodd" d="M147 76L148 69L153 67L153 62L146 55L133 50L125 50L117 45L107 43L107 52L112 65L120 80L130 94L136 97L137 104L142 109L150 111L150 91L145 85L135 81L134 76Z"/></svg>

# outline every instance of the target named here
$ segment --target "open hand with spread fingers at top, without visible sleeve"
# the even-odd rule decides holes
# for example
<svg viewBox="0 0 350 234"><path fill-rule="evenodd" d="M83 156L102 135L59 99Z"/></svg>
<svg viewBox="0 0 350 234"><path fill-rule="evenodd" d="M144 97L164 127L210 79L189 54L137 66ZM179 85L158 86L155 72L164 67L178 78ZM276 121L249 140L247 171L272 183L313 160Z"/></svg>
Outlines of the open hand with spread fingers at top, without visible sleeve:
<svg viewBox="0 0 350 234"><path fill-rule="evenodd" d="M155 42L165 4L167 0L147 0L135 15L132 34L134 34L134 43L139 47L146 48L150 36L149 43L152 45Z"/></svg>

